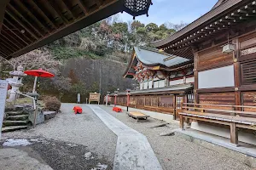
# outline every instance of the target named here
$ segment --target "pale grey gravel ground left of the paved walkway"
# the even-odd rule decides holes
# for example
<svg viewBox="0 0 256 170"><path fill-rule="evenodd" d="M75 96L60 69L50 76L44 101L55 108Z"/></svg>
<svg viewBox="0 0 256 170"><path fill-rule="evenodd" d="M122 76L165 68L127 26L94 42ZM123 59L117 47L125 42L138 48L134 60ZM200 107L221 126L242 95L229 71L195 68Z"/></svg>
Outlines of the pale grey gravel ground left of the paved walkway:
<svg viewBox="0 0 256 170"><path fill-rule="evenodd" d="M111 169L117 143L116 135L86 105L81 105L84 111L83 114L73 114L74 105L62 104L61 113L57 114L55 118L30 130L3 133L2 139L34 139L40 137L54 139L59 142L84 145L88 151L95 153L98 160L108 161L108 169ZM42 153L47 155L47 152L43 150ZM66 161L67 159L58 159L59 166L57 167L65 165ZM54 162L54 160L47 162ZM53 167L50 164L49 166ZM59 169L57 167L54 169Z"/></svg>

